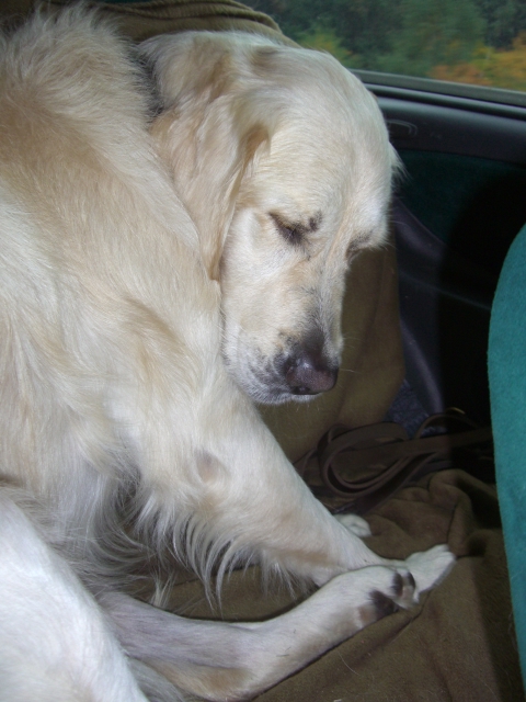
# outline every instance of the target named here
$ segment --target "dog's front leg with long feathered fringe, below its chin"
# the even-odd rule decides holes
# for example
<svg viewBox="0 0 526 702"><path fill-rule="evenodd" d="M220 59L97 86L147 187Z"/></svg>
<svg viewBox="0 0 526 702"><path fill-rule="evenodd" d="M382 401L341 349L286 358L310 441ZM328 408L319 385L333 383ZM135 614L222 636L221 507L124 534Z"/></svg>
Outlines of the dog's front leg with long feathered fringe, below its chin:
<svg viewBox="0 0 526 702"><path fill-rule="evenodd" d="M173 533L175 550L186 552L205 582L214 563L220 564L220 584L238 558L317 585L347 570L391 565L357 535L365 532L363 521L346 529L312 496L251 401L217 363L211 369L192 415L181 407L169 426L167 417L175 412L167 409L133 424L145 427L135 441L142 448L144 523L155 523L161 537ZM418 590L435 585L451 563L444 547L415 558L410 569Z"/></svg>

